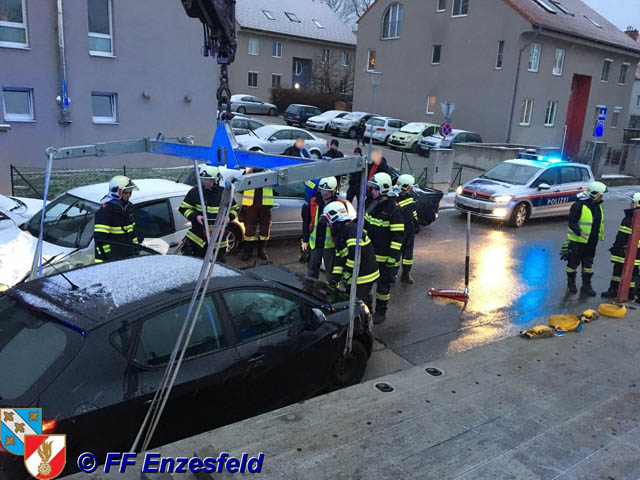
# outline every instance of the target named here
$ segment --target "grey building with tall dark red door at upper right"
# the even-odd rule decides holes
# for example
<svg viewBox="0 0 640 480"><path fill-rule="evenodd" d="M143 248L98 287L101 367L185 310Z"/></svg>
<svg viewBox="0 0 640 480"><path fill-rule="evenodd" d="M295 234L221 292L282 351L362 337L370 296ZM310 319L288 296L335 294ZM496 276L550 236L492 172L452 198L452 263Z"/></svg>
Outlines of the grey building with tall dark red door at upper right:
<svg viewBox="0 0 640 480"><path fill-rule="evenodd" d="M575 157L608 109L622 143L638 45L580 0L378 0L360 18L354 109L441 123ZM410 72L398 74L396 72Z"/></svg>

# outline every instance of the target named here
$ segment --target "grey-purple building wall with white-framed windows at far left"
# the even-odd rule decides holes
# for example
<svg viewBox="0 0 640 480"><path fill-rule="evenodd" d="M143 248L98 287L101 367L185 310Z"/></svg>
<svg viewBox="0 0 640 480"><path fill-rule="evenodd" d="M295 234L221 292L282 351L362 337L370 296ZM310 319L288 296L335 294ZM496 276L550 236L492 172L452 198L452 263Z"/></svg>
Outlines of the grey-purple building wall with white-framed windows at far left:
<svg viewBox="0 0 640 480"><path fill-rule="evenodd" d="M218 69L214 60L202 57L200 22L185 14L179 1L63 0L66 69L58 18L54 1L0 2L0 124L5 125L0 128L0 193L10 191L10 164L44 167L49 146L155 137L158 132L211 142ZM56 166L125 164L184 161L142 155Z"/></svg>

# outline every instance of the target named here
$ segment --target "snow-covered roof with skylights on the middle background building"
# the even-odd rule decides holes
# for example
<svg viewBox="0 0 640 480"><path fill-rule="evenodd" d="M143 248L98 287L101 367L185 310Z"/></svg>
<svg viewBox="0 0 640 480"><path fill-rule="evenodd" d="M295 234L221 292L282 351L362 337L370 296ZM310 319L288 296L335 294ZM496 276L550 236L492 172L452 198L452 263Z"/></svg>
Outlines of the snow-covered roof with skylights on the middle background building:
<svg viewBox="0 0 640 480"><path fill-rule="evenodd" d="M237 0L236 21L242 28L356 45L351 28L320 0Z"/></svg>

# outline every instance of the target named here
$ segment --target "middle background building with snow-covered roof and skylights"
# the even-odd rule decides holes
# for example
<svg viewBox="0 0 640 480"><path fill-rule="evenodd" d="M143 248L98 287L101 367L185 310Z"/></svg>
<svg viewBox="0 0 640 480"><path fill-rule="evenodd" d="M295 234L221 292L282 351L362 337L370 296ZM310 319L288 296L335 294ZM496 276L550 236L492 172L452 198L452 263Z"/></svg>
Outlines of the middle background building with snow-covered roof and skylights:
<svg viewBox="0 0 640 480"><path fill-rule="evenodd" d="M238 0L231 89L269 101L272 88L353 91L356 37L320 0Z"/></svg>

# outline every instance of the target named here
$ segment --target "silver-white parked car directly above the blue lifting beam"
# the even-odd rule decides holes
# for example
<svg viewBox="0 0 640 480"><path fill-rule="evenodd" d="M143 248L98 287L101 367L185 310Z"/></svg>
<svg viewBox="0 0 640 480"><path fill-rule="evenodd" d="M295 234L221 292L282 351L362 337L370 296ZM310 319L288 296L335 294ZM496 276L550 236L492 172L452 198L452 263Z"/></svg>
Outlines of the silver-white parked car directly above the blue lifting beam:
<svg viewBox="0 0 640 480"><path fill-rule="evenodd" d="M282 152L293 145L298 136L305 139L305 146L315 158L322 158L322 153L329 148L326 140L301 128L285 125L266 125L249 135L239 135L236 140L243 150L282 155Z"/></svg>

